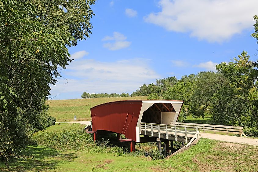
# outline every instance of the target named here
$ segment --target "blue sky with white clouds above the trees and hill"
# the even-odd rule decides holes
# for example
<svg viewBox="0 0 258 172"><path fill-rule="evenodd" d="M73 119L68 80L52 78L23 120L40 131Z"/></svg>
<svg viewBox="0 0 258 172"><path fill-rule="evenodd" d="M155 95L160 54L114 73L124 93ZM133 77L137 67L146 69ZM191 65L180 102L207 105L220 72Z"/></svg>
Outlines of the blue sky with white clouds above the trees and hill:
<svg viewBox="0 0 258 172"><path fill-rule="evenodd" d="M90 38L51 85L53 100L129 93L156 79L216 71L243 50L256 60L257 0L98 0Z"/></svg>

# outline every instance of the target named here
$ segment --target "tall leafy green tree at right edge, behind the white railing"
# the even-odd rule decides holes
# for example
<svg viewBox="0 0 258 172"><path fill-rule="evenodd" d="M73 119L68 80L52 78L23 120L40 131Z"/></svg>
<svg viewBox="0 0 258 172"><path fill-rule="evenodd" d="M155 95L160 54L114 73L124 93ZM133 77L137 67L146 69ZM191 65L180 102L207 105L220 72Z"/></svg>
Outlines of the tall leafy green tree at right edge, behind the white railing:
<svg viewBox="0 0 258 172"><path fill-rule="evenodd" d="M221 124L255 126L258 129L257 82L252 77L256 69L247 52L243 51L228 64L216 65L216 69L227 77L230 84L213 96L214 120ZM255 135L255 132L250 135Z"/></svg>

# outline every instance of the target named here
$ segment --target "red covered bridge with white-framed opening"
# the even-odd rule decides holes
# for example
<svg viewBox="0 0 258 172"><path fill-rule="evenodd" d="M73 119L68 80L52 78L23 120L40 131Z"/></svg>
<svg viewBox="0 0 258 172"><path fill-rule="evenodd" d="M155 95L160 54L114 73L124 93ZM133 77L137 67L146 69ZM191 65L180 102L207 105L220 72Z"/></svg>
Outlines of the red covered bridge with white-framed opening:
<svg viewBox="0 0 258 172"><path fill-rule="evenodd" d="M140 134L144 134L144 131L141 131L143 125L145 125L145 135L149 134L155 137L152 124L169 125L171 122L176 122L183 102L173 100L125 100L97 105L90 109L94 140L96 134L102 131L109 131L118 135L124 134L127 141L131 141L131 151L134 151L135 142L143 142L140 139ZM147 124L151 126L148 134ZM157 137L162 138L160 136L162 132L159 131L160 125L157 125L156 129L158 130L156 132ZM165 139L169 139L168 131Z"/></svg>

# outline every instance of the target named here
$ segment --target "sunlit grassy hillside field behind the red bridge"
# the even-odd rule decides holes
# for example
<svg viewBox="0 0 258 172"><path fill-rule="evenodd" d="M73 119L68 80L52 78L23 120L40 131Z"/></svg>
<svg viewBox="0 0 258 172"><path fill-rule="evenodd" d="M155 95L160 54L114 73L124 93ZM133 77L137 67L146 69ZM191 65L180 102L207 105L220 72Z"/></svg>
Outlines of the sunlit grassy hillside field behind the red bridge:
<svg viewBox="0 0 258 172"><path fill-rule="evenodd" d="M73 99L73 100L48 100L49 114L56 118L57 122L73 121L74 115L77 121L91 120L90 108L98 104L118 100L141 100L142 97L110 97L110 98L91 98L91 99Z"/></svg>

